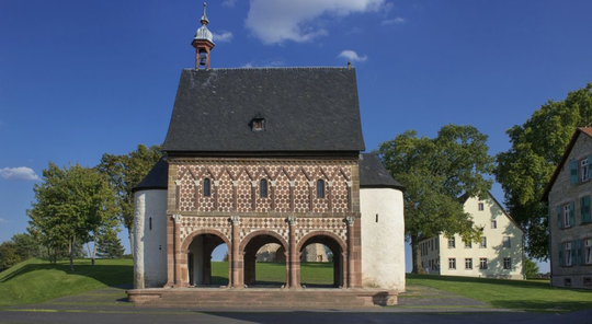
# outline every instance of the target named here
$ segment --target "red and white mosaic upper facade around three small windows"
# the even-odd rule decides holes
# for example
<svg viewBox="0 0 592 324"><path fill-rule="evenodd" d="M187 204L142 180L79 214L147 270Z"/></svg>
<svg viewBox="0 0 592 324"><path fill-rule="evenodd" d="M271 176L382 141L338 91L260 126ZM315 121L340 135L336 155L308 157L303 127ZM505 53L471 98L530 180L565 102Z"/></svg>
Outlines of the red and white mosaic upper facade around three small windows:
<svg viewBox="0 0 592 324"><path fill-rule="evenodd" d="M253 211L346 212L350 206L348 182L351 181L354 163L206 161L198 164L179 164L175 182L180 186L178 188L179 210L241 213ZM210 181L209 197L204 197L205 178ZM262 178L267 181L267 198L260 197ZM326 183L325 198L317 198L318 180ZM253 190L252 182L255 182L255 190ZM314 185L312 190L309 183ZM255 199L254 210L253 199ZM329 210L329 199L331 199L332 210ZM312 206L310 206L310 200L312 200Z"/></svg>

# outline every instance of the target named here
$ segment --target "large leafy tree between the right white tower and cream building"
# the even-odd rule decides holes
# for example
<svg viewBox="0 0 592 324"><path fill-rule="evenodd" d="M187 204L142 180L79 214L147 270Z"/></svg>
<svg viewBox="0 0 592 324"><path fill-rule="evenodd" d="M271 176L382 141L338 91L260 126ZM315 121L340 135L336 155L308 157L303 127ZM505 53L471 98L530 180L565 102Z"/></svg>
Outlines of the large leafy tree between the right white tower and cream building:
<svg viewBox="0 0 592 324"><path fill-rule="evenodd" d="M419 241L443 233L479 240L480 231L463 209L466 197L485 197L493 171L487 136L473 126L446 125L433 139L414 130L380 144L389 173L406 190L405 231L411 241L413 273L423 273Z"/></svg>

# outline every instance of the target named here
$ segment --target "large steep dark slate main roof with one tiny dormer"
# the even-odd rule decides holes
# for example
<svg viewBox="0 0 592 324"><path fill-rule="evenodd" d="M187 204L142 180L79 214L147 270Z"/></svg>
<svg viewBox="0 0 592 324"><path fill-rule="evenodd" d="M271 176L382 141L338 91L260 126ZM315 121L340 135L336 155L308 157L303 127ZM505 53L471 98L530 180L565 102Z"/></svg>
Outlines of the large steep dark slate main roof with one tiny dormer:
<svg viewBox="0 0 592 324"><path fill-rule="evenodd" d="M263 131L250 121L265 119ZM183 70L162 150L363 151L355 69Z"/></svg>

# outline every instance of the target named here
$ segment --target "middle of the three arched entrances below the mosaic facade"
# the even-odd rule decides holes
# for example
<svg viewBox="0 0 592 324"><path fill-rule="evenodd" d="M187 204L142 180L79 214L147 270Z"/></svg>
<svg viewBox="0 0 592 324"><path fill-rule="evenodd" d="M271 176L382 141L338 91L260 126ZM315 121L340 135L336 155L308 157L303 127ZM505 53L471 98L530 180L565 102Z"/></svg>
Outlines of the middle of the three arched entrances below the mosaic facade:
<svg viewBox="0 0 592 324"><path fill-rule="evenodd" d="M239 251L243 257L243 284L247 287L281 287L287 282L287 267L285 263L259 263L260 270L269 269L270 274L281 273L280 277L267 277L265 273L258 276L257 253L259 250L270 243L280 244L278 251L286 251L287 243L280 234L272 231L253 232L240 244ZM272 267L283 267L285 271L274 271Z"/></svg>

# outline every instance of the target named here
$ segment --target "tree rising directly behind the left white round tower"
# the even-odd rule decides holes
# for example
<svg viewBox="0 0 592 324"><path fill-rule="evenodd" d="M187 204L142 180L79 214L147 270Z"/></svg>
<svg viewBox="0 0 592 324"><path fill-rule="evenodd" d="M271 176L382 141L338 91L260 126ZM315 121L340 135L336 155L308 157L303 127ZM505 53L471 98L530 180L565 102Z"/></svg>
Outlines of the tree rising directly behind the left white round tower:
<svg viewBox="0 0 592 324"><path fill-rule="evenodd" d="M127 229L132 253L134 252L134 194L132 189L146 177L161 157L159 146L147 148L139 144L136 151L125 155L103 154L99 165L99 171L109 178L115 192L118 219Z"/></svg>

